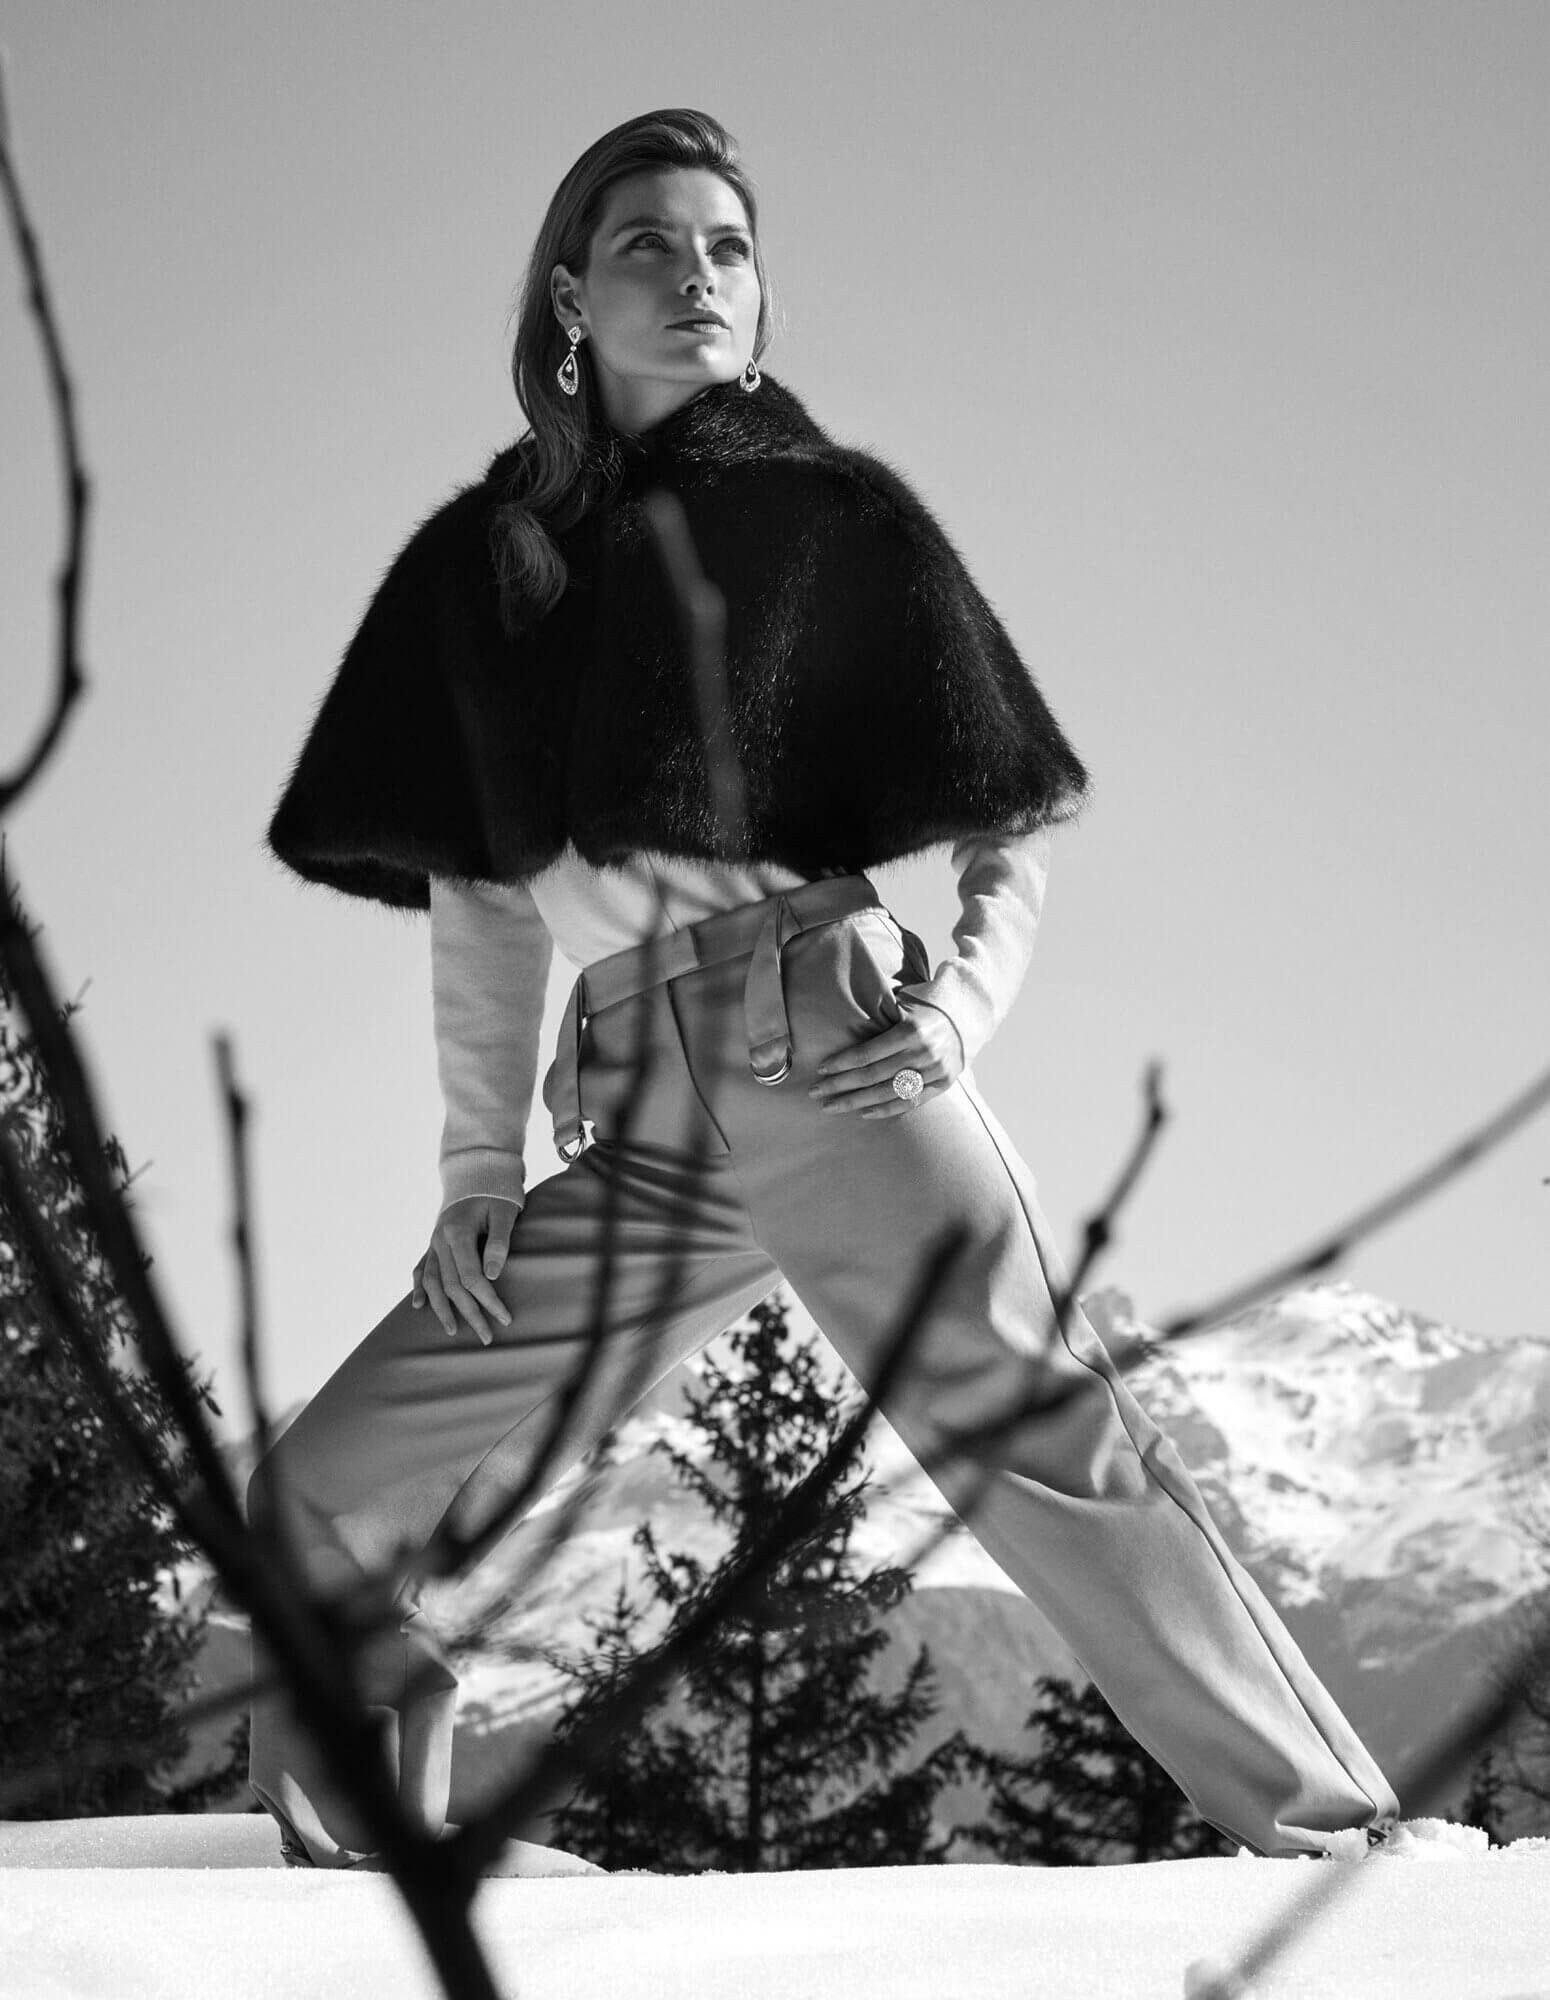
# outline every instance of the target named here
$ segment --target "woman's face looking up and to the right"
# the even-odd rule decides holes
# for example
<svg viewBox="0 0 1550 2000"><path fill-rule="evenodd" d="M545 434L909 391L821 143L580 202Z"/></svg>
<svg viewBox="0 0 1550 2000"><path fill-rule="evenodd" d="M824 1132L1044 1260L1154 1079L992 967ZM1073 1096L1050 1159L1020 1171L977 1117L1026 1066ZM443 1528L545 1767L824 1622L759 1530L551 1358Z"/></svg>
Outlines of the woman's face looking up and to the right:
<svg viewBox="0 0 1550 2000"><path fill-rule="evenodd" d="M586 274L556 264L562 326L582 328L614 430L638 432L748 366L758 272L736 190L708 168L616 180L588 246ZM696 312L724 326L684 328Z"/></svg>

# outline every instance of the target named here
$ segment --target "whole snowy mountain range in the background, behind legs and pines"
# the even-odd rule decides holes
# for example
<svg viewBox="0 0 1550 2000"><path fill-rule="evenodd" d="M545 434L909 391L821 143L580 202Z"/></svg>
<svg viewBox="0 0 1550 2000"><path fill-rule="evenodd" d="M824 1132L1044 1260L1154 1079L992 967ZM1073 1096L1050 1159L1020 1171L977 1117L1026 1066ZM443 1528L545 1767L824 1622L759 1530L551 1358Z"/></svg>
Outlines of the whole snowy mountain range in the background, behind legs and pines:
<svg viewBox="0 0 1550 2000"><path fill-rule="evenodd" d="M1146 1332L1118 1290L1084 1304L1114 1352ZM702 1508L652 1450L658 1438L696 1442L682 1414L694 1370L690 1362L670 1376L620 1426L576 1532L536 1580L524 1582L524 1570L586 1468L476 1576L432 1600L444 1626L494 1608L460 1666L454 1816L546 1734L562 1682L540 1650L586 1648L588 1616L606 1608L620 1578L638 1582L630 1538L642 1518L652 1518L662 1548L708 1560L720 1552ZM1526 1532L1532 1480L1542 1482L1550 1462L1550 1342L1464 1334L1348 1284L1322 1284L1152 1354L1132 1384L1232 1548L1398 1774L1480 1686L1514 1610L1550 1586L1550 1548ZM882 1422L868 1456L876 1484L856 1546L864 1560L914 1562L948 1520L944 1508ZM502 1608L512 1584L518 1608ZM984 1744L1026 1750L1036 1676L1080 1678L1062 1640L958 1524L916 1564L880 1672L888 1686L922 1640L942 1694L922 1750L958 1726ZM234 1678L240 1658L240 1622L218 1612L206 1684ZM972 1794L944 1804L972 1808Z"/></svg>

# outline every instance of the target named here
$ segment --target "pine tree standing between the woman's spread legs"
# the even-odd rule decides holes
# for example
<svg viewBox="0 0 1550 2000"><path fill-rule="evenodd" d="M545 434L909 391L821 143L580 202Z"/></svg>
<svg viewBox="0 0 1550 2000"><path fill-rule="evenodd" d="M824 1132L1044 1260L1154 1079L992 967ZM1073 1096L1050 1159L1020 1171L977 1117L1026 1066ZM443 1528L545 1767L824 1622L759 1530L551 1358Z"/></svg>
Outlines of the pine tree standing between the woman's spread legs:
<svg viewBox="0 0 1550 2000"><path fill-rule="evenodd" d="M728 1338L728 1364L708 1366L688 1398L704 1460L658 1440L674 1474L730 1536L712 1568L658 1548L636 1530L646 1576L670 1616L666 1644L768 1532L782 1500L854 1410L822 1378L814 1342L790 1336L786 1308L766 1300ZM920 1648L904 1686L880 1694L872 1662L888 1644L880 1620L908 1594L898 1566L862 1574L850 1538L864 1516L864 1472L838 1482L828 1510L790 1546L768 1584L688 1664L676 1688L606 1750L552 1816L554 1838L606 1868L736 1872L940 1862L934 1804L962 1774L962 1732L896 1770L936 1712L934 1668ZM562 1738L586 1730L598 1704L646 1650L646 1610L624 1586L598 1628L592 1660L554 1658L580 1682ZM686 1720L668 1724L676 1700ZM954 1830L956 1832L956 1830Z"/></svg>

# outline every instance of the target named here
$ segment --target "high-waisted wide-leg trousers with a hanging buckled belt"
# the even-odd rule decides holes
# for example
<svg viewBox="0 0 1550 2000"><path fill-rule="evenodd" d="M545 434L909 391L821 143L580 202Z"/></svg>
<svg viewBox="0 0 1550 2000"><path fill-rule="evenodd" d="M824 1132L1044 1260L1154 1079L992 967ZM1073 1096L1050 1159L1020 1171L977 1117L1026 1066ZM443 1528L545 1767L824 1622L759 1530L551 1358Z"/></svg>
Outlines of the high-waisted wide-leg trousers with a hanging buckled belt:
<svg viewBox="0 0 1550 2000"><path fill-rule="evenodd" d="M396 1710L400 1800L426 1830L448 1808L456 1676L406 1564L444 1518L476 1532L522 1486L598 1310L600 1360L534 1502L782 1278L872 1384L922 1250L954 1228L962 1250L882 1404L948 1504L1222 1832L1318 1852L1398 1812L1080 1308L1056 1330L1066 1274L972 1076L892 1118L810 1098L816 1064L896 1024L898 984L922 976L862 876L588 968L544 1082L568 1164L530 1190L496 1280L510 1326L490 1346L462 1322L448 1336L406 1294L254 1472L250 1518L282 1508L320 1590L406 1576L362 1694ZM284 1696L254 1706L250 1782L316 1864L370 1850Z"/></svg>

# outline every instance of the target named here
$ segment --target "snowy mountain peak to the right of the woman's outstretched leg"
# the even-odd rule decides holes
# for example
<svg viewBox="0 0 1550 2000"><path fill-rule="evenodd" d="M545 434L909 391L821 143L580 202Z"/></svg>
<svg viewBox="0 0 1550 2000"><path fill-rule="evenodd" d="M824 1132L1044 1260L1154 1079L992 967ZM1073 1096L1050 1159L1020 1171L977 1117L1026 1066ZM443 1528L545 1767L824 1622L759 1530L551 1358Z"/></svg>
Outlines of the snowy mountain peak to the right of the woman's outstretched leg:
<svg viewBox="0 0 1550 2000"><path fill-rule="evenodd" d="M1124 1294L1088 1302L1106 1340ZM1234 1552L1396 1772L1550 1588L1550 1342L1312 1286L1162 1350L1136 1394ZM1538 1536L1534 1516L1538 1512Z"/></svg>

